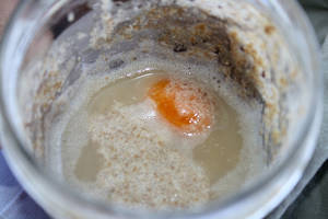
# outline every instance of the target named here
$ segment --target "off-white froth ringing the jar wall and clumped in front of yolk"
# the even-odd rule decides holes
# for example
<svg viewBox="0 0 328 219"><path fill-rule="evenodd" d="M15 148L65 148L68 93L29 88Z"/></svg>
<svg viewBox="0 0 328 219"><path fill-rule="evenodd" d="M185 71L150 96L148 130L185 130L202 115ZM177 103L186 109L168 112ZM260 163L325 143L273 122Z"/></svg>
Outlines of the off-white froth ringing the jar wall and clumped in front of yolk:
<svg viewBox="0 0 328 219"><path fill-rule="evenodd" d="M192 154L181 157L178 151L173 150L175 148L174 146L163 149L162 145L169 146L169 143L172 142L181 145L181 148L188 146L190 147L190 145L192 143L191 141L177 141L172 131L163 127L159 127L156 122L154 122L155 119L153 119L154 117L156 117L156 115L148 111L150 108L151 103L136 105L134 108L130 110L124 108L118 104L115 106L116 110L112 112L113 115L107 115L109 117L112 116L110 119L105 117L93 117L92 120L90 120L90 117L87 116L87 112L85 111L87 108L86 106L101 89L110 83L115 83L120 79L132 79L142 76L151 70L164 70L165 72L168 72L172 76L179 74L179 77L199 80L203 84L210 87L211 90L214 90L215 93L218 93L238 114L238 123L241 127L239 134L243 137L241 159L238 161L237 166L234 170L230 171L224 177L220 178L216 183L214 183L211 186L211 193L208 191L210 187L204 172L200 166L196 165L191 161ZM191 65L187 62L181 64L180 61L168 62L164 60L149 58L143 61L134 61L132 65L126 66L122 69L112 71L110 74L87 74L87 79L83 81L83 84L81 83L78 85L81 89L77 92L78 95L70 101L71 104L66 111L67 113L61 115L58 123L54 124L54 126L49 130L51 135L49 135L48 145L51 147L48 147L49 150L47 151L47 157L50 160L50 168L54 169L54 166L57 166L56 171L58 173L63 174L67 178L69 178L69 181L73 182L77 185L80 185L80 187L83 187L86 193L94 195L104 193L112 194L110 198L117 200L118 203L133 204L134 201L134 205L137 205L136 200L138 198L136 199L136 196L131 194L131 191L136 192L134 195L137 195L138 197L141 197L142 194L148 194L147 197L144 196L139 200L145 201L145 199L149 199L152 196L153 203L151 205L153 206L151 207L163 207L165 205L168 205L171 200L167 200L168 197L165 196L166 193L176 194L177 196L180 196L180 203L176 204L179 207L186 207L190 206L190 201L194 204L206 203L209 199L210 194L211 196L218 196L236 191L238 186L243 186L241 182L244 182L246 178L251 178L251 176L256 175L265 166L265 155L261 149L262 143L259 132L261 124L261 106L256 101L250 101L246 103L245 101L241 100L236 95L238 88L235 87L234 83L229 80L225 80L224 83L222 83L221 81L223 81L224 79L221 78L221 74L216 71L218 69L214 67L214 65L202 66ZM127 115L129 114L134 114L134 116L128 116L134 119L127 120ZM137 114L138 116L136 116ZM147 119L140 119L142 117L147 117ZM110 123L104 125L104 120L110 120ZM125 124L131 125L131 127L124 125L124 129L120 130L122 136L116 136L114 138L113 132L110 131L117 130L119 125L122 125L122 120ZM144 124L144 120L147 120L148 123ZM225 123L227 122L225 120ZM90 125L89 130L85 129L85 127L87 127L86 124ZM138 125L136 126L136 124ZM224 123L222 124L224 125ZM141 135L142 138L145 139L142 143L138 143L133 139L131 139L131 141L128 140L128 137L133 132L132 126L134 129L138 129L138 127L142 127L144 129L139 130L139 135ZM71 131L68 131L67 127L70 127L69 129ZM102 128L102 130L99 130L98 128ZM102 142L101 145L107 146L101 147L101 149L98 149L98 153L102 154L102 157L104 157L106 160L107 168L99 172L96 185L93 183L80 182L73 174L75 163L81 153L81 148L87 145L89 134L91 134L91 138L97 139L97 141L101 141L101 139L103 139L104 142ZM105 136L101 137L98 136L99 134L104 134ZM132 134L131 137L133 137L133 135L134 134ZM124 149L125 147L118 147L119 143L116 148L113 148L113 145L109 146L108 142L110 141L108 141L108 139L110 138L110 136L113 137L113 139L115 139L114 141L117 143L119 141L128 142L128 145L130 146L134 145L136 147L139 147L138 150L140 150L140 147L144 148L144 151L147 152L143 155L145 157L152 157L153 154L151 153L164 153L166 154L166 160L163 160L163 162L160 164L161 166L149 166L148 169L141 169L137 165L143 165L144 163L142 162L134 163L136 165L131 162L127 162L134 154L137 154L136 151L133 152L132 149L129 149L125 152L121 151L119 154L127 154L128 157L132 155L131 158L127 157L127 160L124 160L124 158L118 157L120 161L114 161L113 155L115 153L108 150L118 150L119 148ZM150 142L150 139L153 140ZM166 139L171 139L169 142L165 142ZM61 148L62 142L66 142L65 152ZM171 152L163 152L165 150L171 150ZM185 150L185 152L186 151L188 150ZM108 164L109 162L110 165ZM176 163L175 168L184 170L184 174L183 172L178 172L177 170L167 170L168 168L171 168L168 162ZM58 163L62 163L63 165L60 166L58 165ZM128 174L137 178L136 182L130 181L130 185L126 185L124 183L125 176L121 172L117 172L120 170L120 165L126 164L128 165L127 170L129 170ZM143 172L138 172L138 174L133 173L136 166L139 171L143 170ZM153 175L155 173L166 175L166 180L171 178L171 182L166 182L165 178L163 178L163 182L159 181L159 184L156 184L157 187L153 191L153 188L151 188L151 185L154 185ZM168 174L173 174L172 177L168 177ZM185 183L187 183L185 181L187 175L185 174L189 175L190 178L192 178L194 175L194 177L196 177L195 181L197 181L197 183L183 186ZM112 177L108 177L109 175ZM189 178L189 176L187 178ZM140 185L140 183L137 182L143 183L142 185ZM180 187L180 191L166 191L165 194L160 194L161 191L165 191L164 185L168 183L175 183ZM126 186L126 194L128 195L121 194L124 189L124 187L121 186ZM190 193L186 191L186 187L188 187ZM149 188L151 188L151 192L148 191ZM177 201L177 199L175 199L174 201Z"/></svg>

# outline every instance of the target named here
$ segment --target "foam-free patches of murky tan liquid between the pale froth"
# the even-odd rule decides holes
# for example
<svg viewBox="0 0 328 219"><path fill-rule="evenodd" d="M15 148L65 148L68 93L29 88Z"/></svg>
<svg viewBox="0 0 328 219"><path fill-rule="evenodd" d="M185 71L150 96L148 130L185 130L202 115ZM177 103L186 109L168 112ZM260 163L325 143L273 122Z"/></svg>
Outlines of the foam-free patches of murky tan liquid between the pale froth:
<svg viewBox="0 0 328 219"><path fill-rule="evenodd" d="M145 99L151 85L165 77L167 77L165 72L154 71L109 84L93 97L87 107L87 114L105 114L110 111L115 102L122 105L140 103ZM206 170L210 182L213 184L236 166L242 149L242 136L236 111L220 96L212 95L215 99L213 100L215 103L214 116L218 120L213 124L211 134L207 139L196 147L190 146L190 148L194 149L194 160ZM99 171L102 158L93 152L96 147L94 142L89 142L82 150L75 168L77 177L80 180L95 178L94 174Z"/></svg>

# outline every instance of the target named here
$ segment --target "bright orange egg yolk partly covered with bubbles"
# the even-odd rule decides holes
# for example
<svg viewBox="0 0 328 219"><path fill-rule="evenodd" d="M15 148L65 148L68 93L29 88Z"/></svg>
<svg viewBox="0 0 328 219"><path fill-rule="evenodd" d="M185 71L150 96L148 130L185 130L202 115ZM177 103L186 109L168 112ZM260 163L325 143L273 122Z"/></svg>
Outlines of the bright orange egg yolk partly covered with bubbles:
<svg viewBox="0 0 328 219"><path fill-rule="evenodd" d="M210 128L212 106L208 93L195 84L163 79L149 90L156 111L169 124L185 134L197 134Z"/></svg>

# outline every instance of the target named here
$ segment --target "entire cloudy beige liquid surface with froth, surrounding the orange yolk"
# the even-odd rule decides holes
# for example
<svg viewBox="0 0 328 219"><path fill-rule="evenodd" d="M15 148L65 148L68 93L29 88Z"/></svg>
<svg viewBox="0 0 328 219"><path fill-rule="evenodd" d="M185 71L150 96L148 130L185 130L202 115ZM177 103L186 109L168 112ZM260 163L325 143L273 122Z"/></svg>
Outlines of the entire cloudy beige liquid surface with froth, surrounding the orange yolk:
<svg viewBox="0 0 328 219"><path fill-rule="evenodd" d="M210 100L209 127L189 135L159 113L149 92L167 79ZM265 163L257 108L200 79L171 68L89 82L54 126L50 165L84 193L130 207L196 207L237 191Z"/></svg>

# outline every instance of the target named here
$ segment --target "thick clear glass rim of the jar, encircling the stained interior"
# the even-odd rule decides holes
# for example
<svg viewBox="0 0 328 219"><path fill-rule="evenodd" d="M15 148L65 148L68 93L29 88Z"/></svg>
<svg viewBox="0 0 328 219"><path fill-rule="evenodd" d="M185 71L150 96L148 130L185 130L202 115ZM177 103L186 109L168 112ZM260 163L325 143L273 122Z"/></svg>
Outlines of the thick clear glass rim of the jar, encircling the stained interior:
<svg viewBox="0 0 328 219"><path fill-rule="evenodd" d="M68 37L79 31L72 28L69 34L65 33L75 22L96 10L97 4L93 8L86 2L85 0L21 1L5 31L1 45L1 141L11 170L28 194L54 218L70 219L262 218L277 207L300 181L313 154L323 111L323 80L319 68L318 45L308 20L300 5L295 1L283 0L245 1L266 14L279 28L285 41L285 49L291 54L296 64L295 66L298 67L297 72L300 74L298 78L296 77L297 80L288 83L288 87L293 88L288 89L285 94L281 93L281 96L289 96L288 99L281 97L281 100L286 102L282 104L290 104L288 106L290 113L284 115L285 117L280 115L281 117L277 119L289 122L285 130L288 137L283 142L274 143L274 140L272 140L274 124L267 126L267 132L263 130L263 136L268 135L268 171L236 194L220 201L211 201L197 212L153 212L132 211L121 206L87 199L85 196L70 189L62 181L58 180L56 174L45 168L43 152L39 151L43 145L35 146L36 143L31 139L31 136L37 138L39 131L43 130L37 128L26 129L26 124L24 124L28 112L35 113L33 112L35 108L26 103L30 101L28 92L33 93L35 91L37 93L37 88L43 80L43 76L39 73L25 76L27 73L24 72L36 67L37 62L47 56L47 51L54 46L55 39L59 41L62 35L66 34ZM122 0L103 1L104 4L101 8L108 11L108 18L103 19L109 21L108 19L116 13L115 7L125 7L129 2ZM144 1L143 3L151 4L152 2ZM171 3L179 2L184 1L172 1ZM200 2L197 0L190 2L195 3L194 7L203 7L202 10L209 10L209 13L213 14L215 14L215 10L227 4L236 7L241 14L247 8L241 1L223 3L218 5L218 9L210 9L210 4L206 3L207 1L201 2L202 4L197 4L197 2ZM220 1L218 2L220 4ZM157 3L162 2L157 1ZM142 7L140 4L137 8L142 9ZM126 10L129 10L129 8L126 7ZM132 11L131 14L133 14ZM231 15L233 16L233 14ZM101 28L104 28L104 26L101 26ZM270 35L271 30L269 26L265 32ZM97 34L104 33L99 31ZM81 38L83 37L81 36ZM104 43L106 36L103 38L101 36L98 39ZM124 51L124 48L118 50ZM283 53L279 55L283 55ZM92 51L89 50L83 58L86 61L92 61ZM279 72L271 72L271 74L272 78L274 76L279 77ZM262 77L265 78L265 76ZM266 93L270 83L263 83L265 90L262 93ZM276 82L272 82L272 84L276 84ZM56 91L54 92L56 93ZM277 104L279 103L277 102ZM40 111L40 113L43 112ZM266 141L266 138L263 139Z"/></svg>

